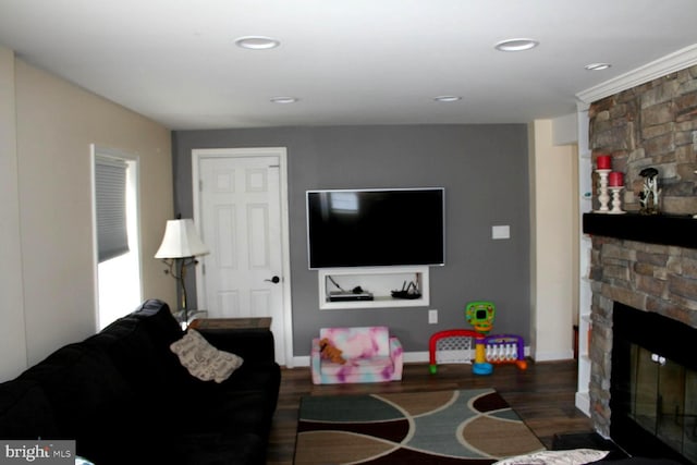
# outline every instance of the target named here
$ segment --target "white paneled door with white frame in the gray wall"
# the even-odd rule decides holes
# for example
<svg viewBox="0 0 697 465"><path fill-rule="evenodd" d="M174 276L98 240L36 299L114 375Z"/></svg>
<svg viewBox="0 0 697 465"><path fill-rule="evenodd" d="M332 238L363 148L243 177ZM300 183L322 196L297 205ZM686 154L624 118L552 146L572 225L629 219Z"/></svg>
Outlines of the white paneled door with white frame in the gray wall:
<svg viewBox="0 0 697 465"><path fill-rule="evenodd" d="M194 150L194 205L210 254L197 267L211 318L271 317L276 357L291 365L285 149Z"/></svg>

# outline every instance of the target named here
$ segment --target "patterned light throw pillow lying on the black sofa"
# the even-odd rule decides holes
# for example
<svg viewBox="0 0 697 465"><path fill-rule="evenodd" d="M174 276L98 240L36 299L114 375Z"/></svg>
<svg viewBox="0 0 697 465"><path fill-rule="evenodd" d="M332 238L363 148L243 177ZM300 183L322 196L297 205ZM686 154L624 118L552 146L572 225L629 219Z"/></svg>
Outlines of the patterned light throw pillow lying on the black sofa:
<svg viewBox="0 0 697 465"><path fill-rule="evenodd" d="M188 329L182 339L174 341L170 350L188 372L201 381L223 382L244 362L235 354L213 347L194 329Z"/></svg>

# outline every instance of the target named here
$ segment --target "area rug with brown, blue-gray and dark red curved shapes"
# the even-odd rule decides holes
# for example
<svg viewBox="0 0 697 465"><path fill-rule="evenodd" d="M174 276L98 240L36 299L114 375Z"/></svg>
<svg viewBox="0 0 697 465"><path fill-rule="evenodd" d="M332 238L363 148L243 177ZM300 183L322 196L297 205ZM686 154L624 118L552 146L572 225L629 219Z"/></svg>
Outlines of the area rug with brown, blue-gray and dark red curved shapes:
<svg viewBox="0 0 697 465"><path fill-rule="evenodd" d="M302 399L295 464L491 464L545 446L492 389Z"/></svg>

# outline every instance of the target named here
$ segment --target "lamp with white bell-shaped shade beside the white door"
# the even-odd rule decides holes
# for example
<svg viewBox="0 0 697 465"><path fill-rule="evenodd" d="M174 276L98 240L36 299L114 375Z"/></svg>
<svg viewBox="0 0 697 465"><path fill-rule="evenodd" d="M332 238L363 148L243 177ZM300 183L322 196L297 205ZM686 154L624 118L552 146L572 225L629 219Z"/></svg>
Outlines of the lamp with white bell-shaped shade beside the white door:
<svg viewBox="0 0 697 465"><path fill-rule="evenodd" d="M208 254L208 247L204 245L196 233L196 227L192 219L168 220L164 230L162 244L155 254L155 258L160 258L169 267L164 270L171 274L181 287L182 308L179 314L182 326L188 325L188 304L186 302L186 268L195 266L198 261L196 256Z"/></svg>

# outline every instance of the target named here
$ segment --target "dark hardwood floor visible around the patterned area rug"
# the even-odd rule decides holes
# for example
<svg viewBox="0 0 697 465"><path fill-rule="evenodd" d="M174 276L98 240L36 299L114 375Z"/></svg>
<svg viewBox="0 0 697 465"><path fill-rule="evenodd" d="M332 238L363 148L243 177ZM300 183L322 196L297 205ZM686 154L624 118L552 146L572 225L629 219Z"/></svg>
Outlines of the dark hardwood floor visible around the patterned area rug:
<svg viewBox="0 0 697 465"><path fill-rule="evenodd" d="M269 440L268 464L290 465L295 450L297 409L304 395L348 395L493 388L517 412L547 448L555 433L592 431L590 419L574 405L576 360L494 367L490 376L472 374L472 365L441 365L430 375L428 364L406 364L402 381L371 384L314 386L309 368L284 369L279 405Z"/></svg>

